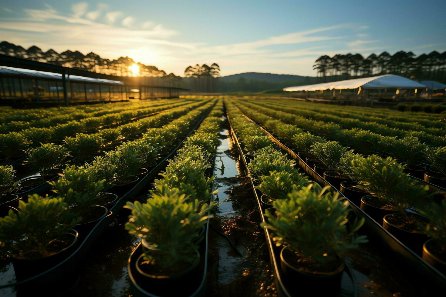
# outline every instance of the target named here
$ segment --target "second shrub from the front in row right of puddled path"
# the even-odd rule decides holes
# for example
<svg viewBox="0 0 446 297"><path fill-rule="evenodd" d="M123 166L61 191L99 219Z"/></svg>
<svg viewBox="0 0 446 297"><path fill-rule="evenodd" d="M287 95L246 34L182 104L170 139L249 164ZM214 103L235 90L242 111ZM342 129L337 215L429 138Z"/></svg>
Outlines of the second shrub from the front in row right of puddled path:
<svg viewBox="0 0 446 297"><path fill-rule="evenodd" d="M297 169L290 171L272 171L270 175L260 176L256 186L262 192L260 200L269 206L277 199L285 199L291 191L297 191L308 183L308 177Z"/></svg>

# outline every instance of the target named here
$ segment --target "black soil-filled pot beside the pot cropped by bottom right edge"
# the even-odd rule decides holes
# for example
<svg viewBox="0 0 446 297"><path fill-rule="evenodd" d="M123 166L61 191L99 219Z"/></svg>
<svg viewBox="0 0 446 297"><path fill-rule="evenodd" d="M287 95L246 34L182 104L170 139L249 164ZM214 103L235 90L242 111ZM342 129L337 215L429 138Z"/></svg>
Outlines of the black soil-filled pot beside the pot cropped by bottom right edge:
<svg viewBox="0 0 446 297"><path fill-rule="evenodd" d="M421 249L427 235L421 229L420 223L425 223L419 216L408 215L407 220L401 213L392 213L384 216L383 227L408 248L421 255Z"/></svg>

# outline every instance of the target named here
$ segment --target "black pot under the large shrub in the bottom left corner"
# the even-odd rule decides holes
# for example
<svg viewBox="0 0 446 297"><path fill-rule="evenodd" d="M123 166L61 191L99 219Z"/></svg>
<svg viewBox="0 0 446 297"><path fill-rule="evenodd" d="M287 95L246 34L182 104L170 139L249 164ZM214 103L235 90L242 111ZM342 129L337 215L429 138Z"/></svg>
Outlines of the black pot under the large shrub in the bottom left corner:
<svg viewBox="0 0 446 297"><path fill-rule="evenodd" d="M70 255L77 240L78 232L74 231L73 233L66 233L58 239L53 240L47 246L45 255L35 250L12 254L11 260L14 265L17 280L33 277L57 265Z"/></svg>

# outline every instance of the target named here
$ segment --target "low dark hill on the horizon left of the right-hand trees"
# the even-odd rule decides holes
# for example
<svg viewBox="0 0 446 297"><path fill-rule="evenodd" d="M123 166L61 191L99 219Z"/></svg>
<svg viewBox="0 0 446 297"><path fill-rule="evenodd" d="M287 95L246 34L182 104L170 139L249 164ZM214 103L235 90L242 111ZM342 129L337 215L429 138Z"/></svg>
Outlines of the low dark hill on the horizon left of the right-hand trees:
<svg viewBox="0 0 446 297"><path fill-rule="evenodd" d="M245 72L219 77L219 92L260 92L281 90L293 85L309 85L318 82L317 77L291 74Z"/></svg>

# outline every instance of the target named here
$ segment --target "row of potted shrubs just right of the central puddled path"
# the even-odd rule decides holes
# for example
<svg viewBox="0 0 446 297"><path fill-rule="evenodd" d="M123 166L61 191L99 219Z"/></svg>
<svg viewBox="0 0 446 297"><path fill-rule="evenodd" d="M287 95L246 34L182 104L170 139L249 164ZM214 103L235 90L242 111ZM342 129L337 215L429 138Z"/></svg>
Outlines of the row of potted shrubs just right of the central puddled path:
<svg viewBox="0 0 446 297"><path fill-rule="evenodd" d="M226 106L244 145L253 133L262 134L231 103ZM253 149L248 173L262 202L266 200L262 227L273 232L272 240L281 249L282 279L289 293L335 292L345 266L343 253L367 242L366 236L355 235L363 220L351 222L351 209L339 193L309 181L271 141Z"/></svg>

